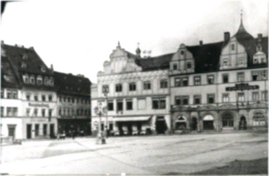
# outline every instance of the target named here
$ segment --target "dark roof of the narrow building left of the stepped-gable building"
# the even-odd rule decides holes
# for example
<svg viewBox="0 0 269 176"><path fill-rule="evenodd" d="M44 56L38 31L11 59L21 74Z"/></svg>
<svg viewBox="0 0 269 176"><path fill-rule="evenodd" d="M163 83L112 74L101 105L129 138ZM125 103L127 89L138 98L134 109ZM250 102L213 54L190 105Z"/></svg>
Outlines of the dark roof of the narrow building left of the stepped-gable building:
<svg viewBox="0 0 269 176"><path fill-rule="evenodd" d="M70 96L91 96L91 81L89 78L54 72L56 91Z"/></svg>

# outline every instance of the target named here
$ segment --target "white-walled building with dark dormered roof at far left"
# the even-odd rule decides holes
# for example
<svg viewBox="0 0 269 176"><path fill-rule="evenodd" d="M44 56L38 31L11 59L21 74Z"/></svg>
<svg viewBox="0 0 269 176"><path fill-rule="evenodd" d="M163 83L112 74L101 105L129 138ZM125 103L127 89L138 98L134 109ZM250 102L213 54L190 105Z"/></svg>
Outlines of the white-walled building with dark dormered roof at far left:
<svg viewBox="0 0 269 176"><path fill-rule="evenodd" d="M33 47L1 42L1 136L31 139L56 133L53 71Z"/></svg>

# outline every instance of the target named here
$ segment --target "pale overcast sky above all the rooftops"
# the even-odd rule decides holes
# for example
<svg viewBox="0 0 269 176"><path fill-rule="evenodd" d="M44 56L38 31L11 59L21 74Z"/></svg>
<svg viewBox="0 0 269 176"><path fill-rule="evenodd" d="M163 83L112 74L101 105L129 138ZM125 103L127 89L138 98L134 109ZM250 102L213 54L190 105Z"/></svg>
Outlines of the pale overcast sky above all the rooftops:
<svg viewBox="0 0 269 176"><path fill-rule="evenodd" d="M58 72L84 74L93 83L120 41L135 53L176 52L180 43L198 45L235 34L240 12L255 38L268 36L268 1L91 0L8 3L1 18L1 40L33 46Z"/></svg>

